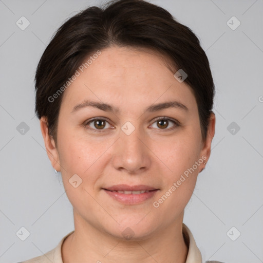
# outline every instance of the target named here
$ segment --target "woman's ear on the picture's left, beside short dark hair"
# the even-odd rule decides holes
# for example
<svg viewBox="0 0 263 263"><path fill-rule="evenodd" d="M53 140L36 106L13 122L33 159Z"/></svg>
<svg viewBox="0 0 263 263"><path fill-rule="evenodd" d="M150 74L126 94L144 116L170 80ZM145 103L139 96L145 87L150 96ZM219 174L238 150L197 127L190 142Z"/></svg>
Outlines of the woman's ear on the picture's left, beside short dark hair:
<svg viewBox="0 0 263 263"><path fill-rule="evenodd" d="M41 117L40 127L45 142L48 158L53 168L59 172L60 171L59 153L57 151L57 147L55 146L54 139L52 138L52 136L49 135L46 117Z"/></svg>

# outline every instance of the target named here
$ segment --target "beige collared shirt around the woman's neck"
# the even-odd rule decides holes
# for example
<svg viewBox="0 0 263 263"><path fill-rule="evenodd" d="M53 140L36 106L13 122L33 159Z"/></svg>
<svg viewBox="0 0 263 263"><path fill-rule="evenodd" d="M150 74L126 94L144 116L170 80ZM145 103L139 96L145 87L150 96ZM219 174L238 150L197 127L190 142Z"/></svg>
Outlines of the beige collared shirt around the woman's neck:
<svg viewBox="0 0 263 263"><path fill-rule="evenodd" d="M18 262L18 263L50 263L50 262L63 263L61 256L62 243L73 232L74 230L68 233L66 236L64 236L59 242L58 246L48 251L45 255L34 257L29 260ZM183 236L186 245L189 248L185 263L202 263L201 253L196 246L195 239L189 228L187 228L184 223L183 223Z"/></svg>

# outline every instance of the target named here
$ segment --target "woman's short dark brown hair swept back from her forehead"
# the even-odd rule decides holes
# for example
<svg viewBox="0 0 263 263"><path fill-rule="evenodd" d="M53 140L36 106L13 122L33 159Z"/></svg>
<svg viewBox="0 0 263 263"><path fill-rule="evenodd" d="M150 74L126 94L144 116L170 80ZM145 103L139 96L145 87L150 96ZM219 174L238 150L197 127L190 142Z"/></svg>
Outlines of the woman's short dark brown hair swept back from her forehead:
<svg viewBox="0 0 263 263"><path fill-rule="evenodd" d="M155 50L168 58L174 73L185 71L184 82L194 91L202 139L206 138L215 87L197 36L159 6L143 0L118 0L104 9L89 7L69 18L55 32L37 65L35 112L39 119L47 118L55 142L63 94L50 98L85 58L111 46Z"/></svg>

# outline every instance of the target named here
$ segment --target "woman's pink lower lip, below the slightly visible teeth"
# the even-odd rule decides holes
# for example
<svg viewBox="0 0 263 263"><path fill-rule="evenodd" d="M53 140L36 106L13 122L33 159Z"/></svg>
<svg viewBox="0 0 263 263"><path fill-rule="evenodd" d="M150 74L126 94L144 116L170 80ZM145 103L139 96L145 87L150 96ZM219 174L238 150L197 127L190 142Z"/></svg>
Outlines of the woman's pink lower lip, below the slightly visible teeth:
<svg viewBox="0 0 263 263"><path fill-rule="evenodd" d="M109 190L103 189L109 196L114 198L115 200L124 203L124 204L138 204L143 201L152 198L158 190L153 190L149 192L145 192L142 194L122 194L118 192L111 192Z"/></svg>

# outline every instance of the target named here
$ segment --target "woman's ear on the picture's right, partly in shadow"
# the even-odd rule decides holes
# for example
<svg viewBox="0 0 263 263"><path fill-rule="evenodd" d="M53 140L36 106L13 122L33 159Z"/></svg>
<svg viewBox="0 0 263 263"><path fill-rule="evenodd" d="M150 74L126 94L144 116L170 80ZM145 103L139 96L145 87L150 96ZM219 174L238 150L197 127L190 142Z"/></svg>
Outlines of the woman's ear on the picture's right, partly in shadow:
<svg viewBox="0 0 263 263"><path fill-rule="evenodd" d="M208 132L207 132L205 141L202 142L202 148L201 148L201 153L200 153L200 158L203 156L202 159L206 163L208 162L208 159L209 159L210 154L211 154L211 143L212 143L212 139L215 135L215 124L216 124L216 116L215 116L214 112L211 112L210 119L209 119L209 125L208 125ZM204 166L205 166L205 164L202 165L202 167L200 165L200 171L199 172L201 172L203 170Z"/></svg>

